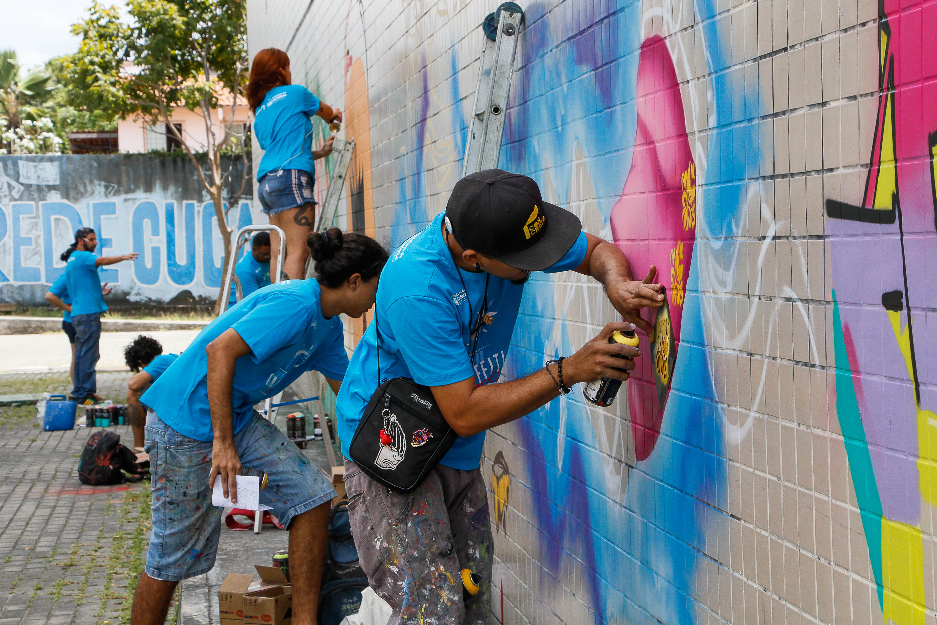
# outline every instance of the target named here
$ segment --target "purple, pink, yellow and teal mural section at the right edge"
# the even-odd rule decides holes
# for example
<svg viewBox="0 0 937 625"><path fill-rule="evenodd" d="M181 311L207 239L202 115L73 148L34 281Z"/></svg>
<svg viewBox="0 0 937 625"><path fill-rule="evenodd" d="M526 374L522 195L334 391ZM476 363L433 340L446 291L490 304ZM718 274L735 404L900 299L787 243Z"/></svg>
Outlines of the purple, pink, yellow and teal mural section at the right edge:
<svg viewBox="0 0 937 625"><path fill-rule="evenodd" d="M921 34L934 28L934 11L881 1L878 107L861 200L826 201L837 235L831 252L840 426L849 433L853 481L864 486L856 497L885 620L915 624L927 613L922 508L937 505L937 377L933 336L926 334L933 289L921 262L935 258L937 228L937 84L920 81L933 52ZM877 259L863 279L850 266L856 244Z"/></svg>

